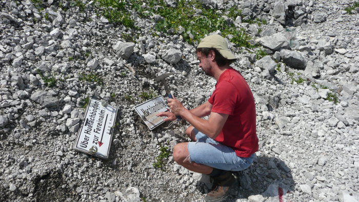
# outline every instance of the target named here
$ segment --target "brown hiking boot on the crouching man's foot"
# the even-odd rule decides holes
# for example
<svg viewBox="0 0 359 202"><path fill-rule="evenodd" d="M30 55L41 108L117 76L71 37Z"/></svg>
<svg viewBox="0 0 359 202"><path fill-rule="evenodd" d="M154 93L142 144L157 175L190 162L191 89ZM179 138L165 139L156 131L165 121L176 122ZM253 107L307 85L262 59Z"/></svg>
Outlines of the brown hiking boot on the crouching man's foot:
<svg viewBox="0 0 359 202"><path fill-rule="evenodd" d="M224 174L213 177L214 188L208 192L205 197L206 201L221 201L227 198L229 191L235 187L236 180L231 172L225 172Z"/></svg>

